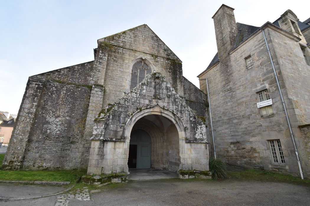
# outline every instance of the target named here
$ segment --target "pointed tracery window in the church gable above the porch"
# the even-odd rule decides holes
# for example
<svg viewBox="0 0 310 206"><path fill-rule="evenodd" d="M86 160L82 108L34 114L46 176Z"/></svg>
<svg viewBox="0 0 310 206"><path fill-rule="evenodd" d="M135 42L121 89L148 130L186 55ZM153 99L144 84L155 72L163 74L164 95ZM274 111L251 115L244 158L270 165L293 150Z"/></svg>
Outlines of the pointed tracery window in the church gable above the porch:
<svg viewBox="0 0 310 206"><path fill-rule="evenodd" d="M130 88L135 88L139 83L143 81L147 74L151 73L152 70L150 66L143 59L137 61L131 69Z"/></svg>

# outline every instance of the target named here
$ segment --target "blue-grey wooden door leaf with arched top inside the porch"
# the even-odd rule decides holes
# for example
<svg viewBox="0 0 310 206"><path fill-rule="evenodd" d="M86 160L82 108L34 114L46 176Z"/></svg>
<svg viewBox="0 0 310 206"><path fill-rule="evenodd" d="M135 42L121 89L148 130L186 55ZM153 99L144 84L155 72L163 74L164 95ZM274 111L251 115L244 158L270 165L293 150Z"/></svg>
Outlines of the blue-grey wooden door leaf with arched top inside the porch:
<svg viewBox="0 0 310 206"><path fill-rule="evenodd" d="M141 129L131 132L129 144L137 145L136 168L151 168L151 137L148 133ZM133 160L133 162L135 162L135 160Z"/></svg>

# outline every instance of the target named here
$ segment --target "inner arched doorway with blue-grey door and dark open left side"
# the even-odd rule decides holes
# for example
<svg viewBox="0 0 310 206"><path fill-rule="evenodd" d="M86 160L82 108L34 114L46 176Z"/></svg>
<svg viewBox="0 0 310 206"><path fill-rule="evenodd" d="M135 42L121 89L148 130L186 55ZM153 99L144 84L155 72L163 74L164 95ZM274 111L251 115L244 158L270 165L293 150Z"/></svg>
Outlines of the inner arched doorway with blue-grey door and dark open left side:
<svg viewBox="0 0 310 206"><path fill-rule="evenodd" d="M151 137L148 132L137 129L131 132L128 154L129 169L151 167Z"/></svg>

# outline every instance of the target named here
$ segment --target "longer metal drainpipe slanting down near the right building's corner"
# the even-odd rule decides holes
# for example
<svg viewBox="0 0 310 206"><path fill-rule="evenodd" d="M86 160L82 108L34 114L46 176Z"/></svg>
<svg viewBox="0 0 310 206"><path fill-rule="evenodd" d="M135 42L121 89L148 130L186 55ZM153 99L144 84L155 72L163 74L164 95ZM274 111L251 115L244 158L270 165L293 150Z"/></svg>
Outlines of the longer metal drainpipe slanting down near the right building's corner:
<svg viewBox="0 0 310 206"><path fill-rule="evenodd" d="M301 169L301 165L300 165L300 161L299 161L299 155L298 155L298 150L297 150L297 147L296 147L296 144L295 144L294 134L293 134L292 127L291 127L291 124L290 124L290 119L289 119L289 116L288 116L287 111L286 111L286 106L285 106L285 102L284 102L283 95L282 95L282 92L281 92L280 84L279 84L279 81L278 81L278 76L277 76L277 73L276 73L276 69L274 68L274 65L273 65L272 57L271 57L270 50L269 50L269 47L268 47L268 44L267 44L265 32L264 32L263 29L262 29L262 32L263 32L263 36L264 36L265 43L266 43L266 46L267 46L267 50L268 50L269 58L270 58L270 61L271 61L272 69L273 69L275 78L277 80L277 85L278 85L278 88L279 88L281 100L282 100L284 111L285 111L286 121L287 121L287 124L288 124L289 129L290 129L290 135L292 137L292 141L293 141L293 144L294 144L294 149L295 149L295 153L296 153L296 156L297 156L297 163L298 163L298 167L299 167L300 177L301 177L301 179L303 179L303 170Z"/></svg>

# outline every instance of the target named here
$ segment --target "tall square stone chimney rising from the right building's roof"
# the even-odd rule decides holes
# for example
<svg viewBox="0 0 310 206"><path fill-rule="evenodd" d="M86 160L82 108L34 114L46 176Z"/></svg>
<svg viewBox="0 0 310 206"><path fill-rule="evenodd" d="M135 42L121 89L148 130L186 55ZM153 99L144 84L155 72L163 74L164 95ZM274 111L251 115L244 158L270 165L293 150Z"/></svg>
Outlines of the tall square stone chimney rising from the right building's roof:
<svg viewBox="0 0 310 206"><path fill-rule="evenodd" d="M237 24L233 13L234 10L235 9L222 4L212 17L220 60L228 55L228 51L233 48L236 40Z"/></svg>

